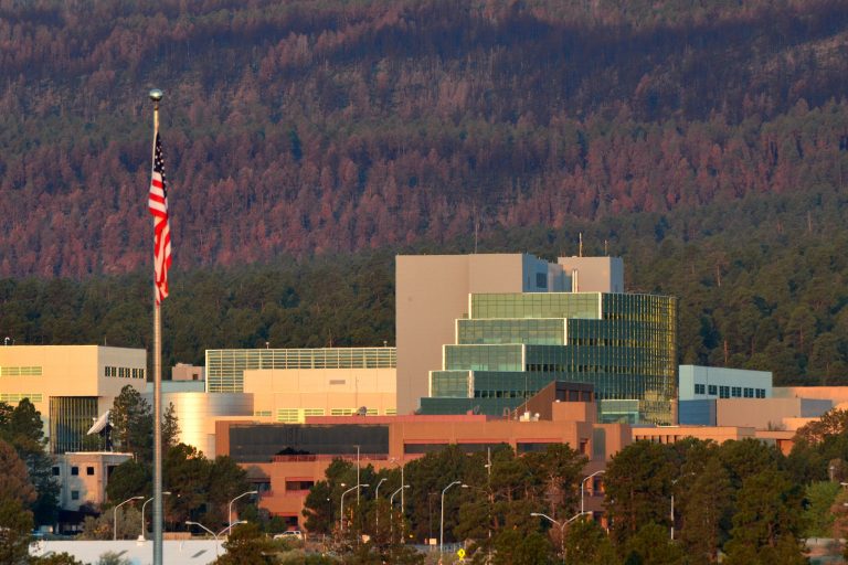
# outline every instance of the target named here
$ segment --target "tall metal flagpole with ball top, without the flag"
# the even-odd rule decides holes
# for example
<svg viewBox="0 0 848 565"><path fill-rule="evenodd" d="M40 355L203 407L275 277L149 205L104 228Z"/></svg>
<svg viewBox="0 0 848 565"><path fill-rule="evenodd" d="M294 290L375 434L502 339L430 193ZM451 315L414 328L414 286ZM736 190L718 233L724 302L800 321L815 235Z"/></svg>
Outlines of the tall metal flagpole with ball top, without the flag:
<svg viewBox="0 0 848 565"><path fill-rule="evenodd" d="M153 100L153 161L159 134L162 90L150 90ZM151 161L151 162L153 162ZM162 315L153 280L153 565L162 565Z"/></svg>

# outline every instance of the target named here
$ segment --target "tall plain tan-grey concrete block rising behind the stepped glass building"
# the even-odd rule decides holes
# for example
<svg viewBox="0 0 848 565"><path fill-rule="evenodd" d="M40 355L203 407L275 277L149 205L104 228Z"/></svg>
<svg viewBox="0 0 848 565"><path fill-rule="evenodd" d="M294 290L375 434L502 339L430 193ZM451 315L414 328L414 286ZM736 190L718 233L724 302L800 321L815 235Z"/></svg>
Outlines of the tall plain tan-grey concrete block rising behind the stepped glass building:
<svg viewBox="0 0 848 565"><path fill-rule="evenodd" d="M398 414L411 414L427 396L428 372L443 366L456 320L468 317L470 294L623 292L624 267L618 257L399 255L395 282Z"/></svg>

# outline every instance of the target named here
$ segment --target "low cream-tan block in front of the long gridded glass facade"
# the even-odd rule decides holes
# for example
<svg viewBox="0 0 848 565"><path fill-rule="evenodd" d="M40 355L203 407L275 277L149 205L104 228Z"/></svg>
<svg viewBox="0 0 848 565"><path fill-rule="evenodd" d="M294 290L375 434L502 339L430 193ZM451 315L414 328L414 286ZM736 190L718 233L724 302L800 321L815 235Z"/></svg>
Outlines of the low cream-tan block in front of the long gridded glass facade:
<svg viewBox="0 0 848 565"><path fill-rule="evenodd" d="M307 416L369 416L396 413L394 367L263 369L244 372L244 392L253 394L253 414L296 424Z"/></svg>

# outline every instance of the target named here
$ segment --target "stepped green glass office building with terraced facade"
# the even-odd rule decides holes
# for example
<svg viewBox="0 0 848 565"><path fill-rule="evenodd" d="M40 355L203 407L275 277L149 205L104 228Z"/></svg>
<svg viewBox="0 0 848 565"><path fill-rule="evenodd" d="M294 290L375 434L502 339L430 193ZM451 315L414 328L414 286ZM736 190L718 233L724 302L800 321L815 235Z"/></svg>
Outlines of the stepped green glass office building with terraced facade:
<svg viewBox="0 0 848 565"><path fill-rule="evenodd" d="M601 422L671 424L677 299L607 292L470 295L430 373L424 414L502 415L552 381L594 385Z"/></svg>

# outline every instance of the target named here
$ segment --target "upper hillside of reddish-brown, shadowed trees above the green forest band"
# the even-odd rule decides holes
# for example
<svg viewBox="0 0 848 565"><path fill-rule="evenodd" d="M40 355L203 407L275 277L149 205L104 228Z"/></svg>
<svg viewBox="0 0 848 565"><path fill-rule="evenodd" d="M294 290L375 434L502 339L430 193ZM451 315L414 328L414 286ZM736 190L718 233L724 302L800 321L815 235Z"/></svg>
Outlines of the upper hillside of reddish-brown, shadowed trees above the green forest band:
<svg viewBox="0 0 848 565"><path fill-rule="evenodd" d="M847 39L836 0L2 0L0 276L150 262L150 87L181 269L840 198Z"/></svg>

